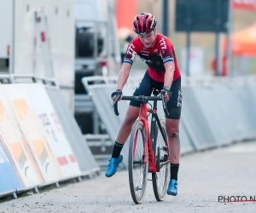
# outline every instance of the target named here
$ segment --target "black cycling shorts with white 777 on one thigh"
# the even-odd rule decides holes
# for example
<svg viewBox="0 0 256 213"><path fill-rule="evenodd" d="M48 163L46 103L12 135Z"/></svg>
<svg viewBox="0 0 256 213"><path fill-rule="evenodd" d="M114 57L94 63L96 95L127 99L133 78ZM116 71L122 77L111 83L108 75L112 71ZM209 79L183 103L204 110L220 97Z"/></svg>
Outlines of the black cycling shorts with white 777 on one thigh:
<svg viewBox="0 0 256 213"><path fill-rule="evenodd" d="M154 79L150 78L148 72L145 73L143 80L138 84L137 89L134 91L133 95L145 95L150 96L152 90L158 89L159 91L163 89L164 83L157 82ZM172 82L171 86L171 99L166 103L169 116L166 118L171 119L180 119L181 109L182 109L182 90L181 90L181 77L177 78ZM140 101L130 101L130 105L133 107L140 107Z"/></svg>

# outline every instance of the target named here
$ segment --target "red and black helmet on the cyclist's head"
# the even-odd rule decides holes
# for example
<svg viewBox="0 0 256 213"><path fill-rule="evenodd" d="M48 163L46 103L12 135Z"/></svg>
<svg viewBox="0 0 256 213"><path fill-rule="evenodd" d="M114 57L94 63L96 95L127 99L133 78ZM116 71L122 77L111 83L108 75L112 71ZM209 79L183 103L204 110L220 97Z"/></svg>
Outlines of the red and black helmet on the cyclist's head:
<svg viewBox="0 0 256 213"><path fill-rule="evenodd" d="M133 31L139 35L146 34L154 30L156 22L157 21L155 20L153 14L137 14L137 16L132 21Z"/></svg>

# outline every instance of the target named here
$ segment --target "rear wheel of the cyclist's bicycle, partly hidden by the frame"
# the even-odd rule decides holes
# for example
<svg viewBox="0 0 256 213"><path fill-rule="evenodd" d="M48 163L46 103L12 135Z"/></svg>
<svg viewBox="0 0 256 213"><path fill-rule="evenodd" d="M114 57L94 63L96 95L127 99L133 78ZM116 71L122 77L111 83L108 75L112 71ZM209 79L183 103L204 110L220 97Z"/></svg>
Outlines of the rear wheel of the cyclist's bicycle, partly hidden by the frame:
<svg viewBox="0 0 256 213"><path fill-rule="evenodd" d="M167 154L169 158L169 152L170 152L165 121L160 119L160 125L164 131L164 134L166 135L167 144L165 143L162 135L160 134L158 124L156 124L156 128L155 128L156 140L154 141L154 145L153 145L155 164L157 164L158 160L163 159L165 154ZM161 144L159 144L159 141L160 141L159 136L160 136L160 139L162 140ZM167 152L162 150L163 146L168 147ZM166 191L167 191L168 183L170 181L170 173L171 173L170 163L163 166L159 172L152 173L154 197L157 201L164 201L166 199Z"/></svg>

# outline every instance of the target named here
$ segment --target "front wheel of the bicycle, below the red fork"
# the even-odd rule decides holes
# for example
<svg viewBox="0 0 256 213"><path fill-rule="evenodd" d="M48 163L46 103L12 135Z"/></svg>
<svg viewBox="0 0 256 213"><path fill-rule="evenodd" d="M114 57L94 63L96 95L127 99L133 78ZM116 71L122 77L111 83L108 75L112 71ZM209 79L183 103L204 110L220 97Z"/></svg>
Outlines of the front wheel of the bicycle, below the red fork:
<svg viewBox="0 0 256 213"><path fill-rule="evenodd" d="M131 137L130 137L130 147L129 147L129 159L128 159L128 172L129 172L129 183L130 183L130 190L131 190L131 198L133 199L135 204L143 203L143 199L145 198L146 188L147 188L147 181L148 181L148 153L144 153L144 146L147 146L147 139L144 135L144 126L143 122L137 120L135 124L132 126L131 130ZM137 147L139 146L139 141L137 139L139 133L142 135L142 143L143 149L141 152L136 152ZM143 158L146 158L146 163L143 164ZM140 164L141 168L138 167L138 163ZM137 173L137 169L140 169L139 173ZM137 175L140 176L142 183L139 186L137 182Z"/></svg>

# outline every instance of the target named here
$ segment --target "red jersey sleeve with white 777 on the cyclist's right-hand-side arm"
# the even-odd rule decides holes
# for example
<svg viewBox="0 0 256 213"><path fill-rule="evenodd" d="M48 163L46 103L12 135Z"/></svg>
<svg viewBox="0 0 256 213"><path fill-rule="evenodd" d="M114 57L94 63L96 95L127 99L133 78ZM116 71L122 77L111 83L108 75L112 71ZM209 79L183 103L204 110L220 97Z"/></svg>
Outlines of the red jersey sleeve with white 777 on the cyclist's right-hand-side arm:
<svg viewBox="0 0 256 213"><path fill-rule="evenodd" d="M162 37L160 39L160 49L161 57L164 64L168 61L174 61L173 45L167 37Z"/></svg>

